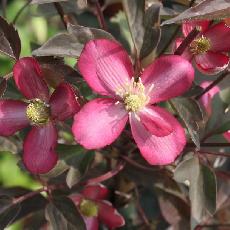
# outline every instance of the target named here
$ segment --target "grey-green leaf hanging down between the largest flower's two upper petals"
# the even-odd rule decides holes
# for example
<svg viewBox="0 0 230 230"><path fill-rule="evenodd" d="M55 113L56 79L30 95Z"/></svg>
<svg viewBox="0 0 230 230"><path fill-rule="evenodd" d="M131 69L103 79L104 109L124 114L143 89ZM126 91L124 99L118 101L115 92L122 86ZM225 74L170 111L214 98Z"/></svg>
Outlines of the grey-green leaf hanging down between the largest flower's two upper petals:
<svg viewBox="0 0 230 230"><path fill-rule="evenodd" d="M160 4L145 11L145 0L123 0L132 40L140 59L150 55L160 40Z"/></svg>

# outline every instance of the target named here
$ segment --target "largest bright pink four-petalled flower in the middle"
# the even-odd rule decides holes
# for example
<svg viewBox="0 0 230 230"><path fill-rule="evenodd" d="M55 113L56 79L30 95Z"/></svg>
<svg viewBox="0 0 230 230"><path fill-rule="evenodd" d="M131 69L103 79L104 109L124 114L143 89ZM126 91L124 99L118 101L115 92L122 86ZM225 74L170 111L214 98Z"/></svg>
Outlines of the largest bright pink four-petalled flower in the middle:
<svg viewBox="0 0 230 230"><path fill-rule="evenodd" d="M158 102L181 95L194 78L192 65L180 56L161 57L138 80L128 54L106 39L88 42L78 67L89 86L107 96L88 102L75 115L75 139L87 149L111 144L129 119L133 138L150 164L169 164L181 153L186 139L178 121Z"/></svg>

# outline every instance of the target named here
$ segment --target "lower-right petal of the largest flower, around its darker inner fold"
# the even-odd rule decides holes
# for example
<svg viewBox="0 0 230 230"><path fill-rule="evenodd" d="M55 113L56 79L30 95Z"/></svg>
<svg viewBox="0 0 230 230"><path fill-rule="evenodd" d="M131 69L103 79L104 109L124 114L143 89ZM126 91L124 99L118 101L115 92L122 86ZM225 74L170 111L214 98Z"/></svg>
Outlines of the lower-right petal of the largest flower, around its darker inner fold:
<svg viewBox="0 0 230 230"><path fill-rule="evenodd" d="M149 107L150 108L150 107ZM185 144L185 132L180 123L166 110L152 106L154 113L158 113L173 127L168 136L158 137L149 132L136 117L131 114L130 124L133 138L140 149L141 155L151 165L166 165L175 161L181 154Z"/></svg>

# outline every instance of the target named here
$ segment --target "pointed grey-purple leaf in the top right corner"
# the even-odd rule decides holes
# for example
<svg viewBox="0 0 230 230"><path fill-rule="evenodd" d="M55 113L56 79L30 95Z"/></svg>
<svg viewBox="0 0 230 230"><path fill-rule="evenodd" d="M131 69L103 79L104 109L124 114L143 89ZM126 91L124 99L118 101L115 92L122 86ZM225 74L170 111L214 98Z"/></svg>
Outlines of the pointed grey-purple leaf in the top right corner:
<svg viewBox="0 0 230 230"><path fill-rule="evenodd" d="M230 14L229 0L204 0L200 4L185 10L177 17L164 21L162 25L188 20L213 20L228 17Z"/></svg>

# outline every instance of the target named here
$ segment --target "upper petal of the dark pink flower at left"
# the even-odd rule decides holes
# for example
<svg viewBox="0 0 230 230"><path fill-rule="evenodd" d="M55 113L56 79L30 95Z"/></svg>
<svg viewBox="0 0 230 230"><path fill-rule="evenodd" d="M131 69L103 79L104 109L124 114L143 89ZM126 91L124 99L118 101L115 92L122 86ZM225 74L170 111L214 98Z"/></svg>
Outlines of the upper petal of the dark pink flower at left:
<svg viewBox="0 0 230 230"><path fill-rule="evenodd" d="M36 59L32 57L19 59L14 65L13 73L18 89L27 99L48 100L48 87L42 79L41 69Z"/></svg>

